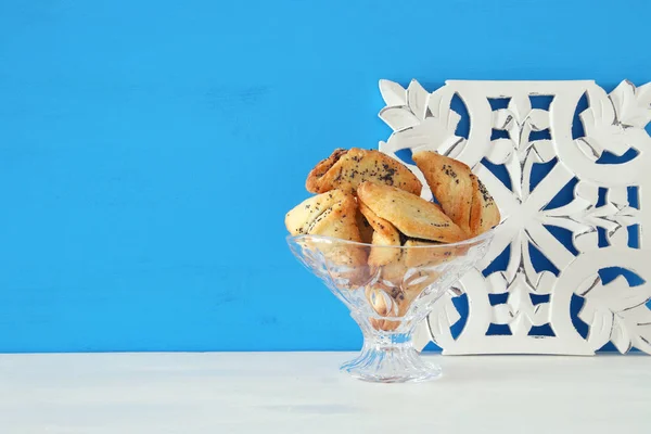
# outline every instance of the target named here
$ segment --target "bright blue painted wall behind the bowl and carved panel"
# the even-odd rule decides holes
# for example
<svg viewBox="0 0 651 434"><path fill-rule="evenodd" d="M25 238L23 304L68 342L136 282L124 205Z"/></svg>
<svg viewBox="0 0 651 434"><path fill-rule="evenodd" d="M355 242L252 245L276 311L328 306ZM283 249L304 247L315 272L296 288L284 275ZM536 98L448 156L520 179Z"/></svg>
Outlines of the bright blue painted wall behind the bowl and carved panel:
<svg viewBox="0 0 651 434"><path fill-rule="evenodd" d="M349 349L282 218L380 78L651 78L644 0L0 0L0 352Z"/></svg>

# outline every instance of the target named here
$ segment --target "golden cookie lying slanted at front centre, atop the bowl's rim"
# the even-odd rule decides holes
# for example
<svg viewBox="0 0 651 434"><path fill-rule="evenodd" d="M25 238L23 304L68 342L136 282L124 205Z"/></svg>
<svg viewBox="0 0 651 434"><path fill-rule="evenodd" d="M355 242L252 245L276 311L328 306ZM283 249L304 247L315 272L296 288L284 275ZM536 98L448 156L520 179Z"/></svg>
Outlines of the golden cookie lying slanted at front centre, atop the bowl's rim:
<svg viewBox="0 0 651 434"><path fill-rule="evenodd" d="M468 238L438 206L395 187L362 182L357 188L357 197L408 238L441 243L454 243Z"/></svg>

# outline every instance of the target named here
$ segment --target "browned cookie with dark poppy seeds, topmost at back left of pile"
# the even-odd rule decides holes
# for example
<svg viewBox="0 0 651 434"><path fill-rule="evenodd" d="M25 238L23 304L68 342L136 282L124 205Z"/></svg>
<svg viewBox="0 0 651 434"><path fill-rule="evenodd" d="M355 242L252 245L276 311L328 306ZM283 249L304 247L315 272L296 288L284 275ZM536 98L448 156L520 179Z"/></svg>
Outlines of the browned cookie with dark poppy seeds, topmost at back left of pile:
<svg viewBox="0 0 651 434"><path fill-rule="evenodd" d="M353 148L335 150L307 176L305 188L312 193L341 189L355 193L363 181L393 186L420 194L422 184L400 162L380 151Z"/></svg>

